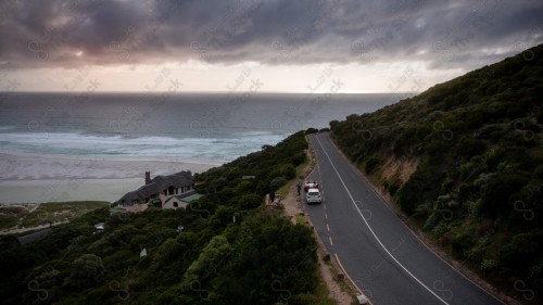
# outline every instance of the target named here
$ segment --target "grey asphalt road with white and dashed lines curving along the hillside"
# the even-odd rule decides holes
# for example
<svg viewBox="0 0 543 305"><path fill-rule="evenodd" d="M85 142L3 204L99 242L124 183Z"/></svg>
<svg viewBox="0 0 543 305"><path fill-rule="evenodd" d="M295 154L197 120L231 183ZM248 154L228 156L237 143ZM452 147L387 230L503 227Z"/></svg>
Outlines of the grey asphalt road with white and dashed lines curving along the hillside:
<svg viewBox="0 0 543 305"><path fill-rule="evenodd" d="M323 203L304 204L329 253L372 304L502 304L441 260L338 152L311 136Z"/></svg>

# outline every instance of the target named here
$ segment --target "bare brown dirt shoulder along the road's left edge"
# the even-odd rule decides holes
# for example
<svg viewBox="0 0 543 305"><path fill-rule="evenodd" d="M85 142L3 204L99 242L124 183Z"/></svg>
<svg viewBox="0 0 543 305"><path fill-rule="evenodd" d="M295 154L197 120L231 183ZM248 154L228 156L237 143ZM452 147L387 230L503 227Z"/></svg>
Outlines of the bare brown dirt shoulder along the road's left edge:
<svg viewBox="0 0 543 305"><path fill-rule="evenodd" d="M310 152L307 152L307 156L310 157L310 160L312 160L312 162L302 171L304 177L306 177L311 173L311 170L313 169L313 164L315 164L313 162L313 157ZM303 209L302 209L303 203L301 196L298 195L296 183L292 183L287 198L282 199L281 203L283 204L285 207L283 213L292 220L293 224L295 224L296 215L303 215ZM303 216L303 219L304 221L307 221L305 216ZM315 236L318 239L318 236L316 233ZM339 305L353 304L354 293L346 292L338 283L337 279L334 278L334 272L332 270L333 267L331 265L327 265L324 260L326 250L324 249L324 245L320 241L318 241L318 244L320 245L320 249L318 251L318 266L319 266L320 277L328 287L329 296L333 298Z"/></svg>

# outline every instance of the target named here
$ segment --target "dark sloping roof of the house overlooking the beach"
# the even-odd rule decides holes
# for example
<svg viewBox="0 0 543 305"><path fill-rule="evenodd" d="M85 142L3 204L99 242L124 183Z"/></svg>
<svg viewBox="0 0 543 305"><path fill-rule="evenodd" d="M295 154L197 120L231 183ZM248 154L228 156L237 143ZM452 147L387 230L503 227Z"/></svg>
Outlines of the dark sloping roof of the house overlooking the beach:
<svg viewBox="0 0 543 305"><path fill-rule="evenodd" d="M169 176L156 176L151 180L151 183L146 185L136 191L126 193L118 202L124 204L132 204L134 201L144 203L146 199L153 194L159 194L168 187L179 188L191 186L194 183L194 178L190 171L179 171Z"/></svg>

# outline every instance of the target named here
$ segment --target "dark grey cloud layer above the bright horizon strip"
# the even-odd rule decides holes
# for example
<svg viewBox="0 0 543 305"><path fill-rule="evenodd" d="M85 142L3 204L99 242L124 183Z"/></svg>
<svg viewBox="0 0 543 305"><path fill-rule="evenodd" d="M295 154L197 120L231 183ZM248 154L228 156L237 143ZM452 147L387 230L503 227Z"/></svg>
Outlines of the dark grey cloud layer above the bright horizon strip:
<svg viewBox="0 0 543 305"><path fill-rule="evenodd" d="M540 0L8 0L0 12L10 67L194 59L471 68L543 41Z"/></svg>

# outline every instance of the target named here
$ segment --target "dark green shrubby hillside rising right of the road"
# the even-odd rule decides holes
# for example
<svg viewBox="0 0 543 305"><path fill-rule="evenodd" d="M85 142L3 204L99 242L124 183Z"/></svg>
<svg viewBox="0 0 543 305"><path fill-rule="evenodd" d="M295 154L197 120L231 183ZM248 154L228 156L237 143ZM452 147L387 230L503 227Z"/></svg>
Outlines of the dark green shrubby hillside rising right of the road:
<svg viewBox="0 0 543 305"><path fill-rule="evenodd" d="M331 136L438 244L508 294L538 302L542 97L543 45L331 122Z"/></svg>

